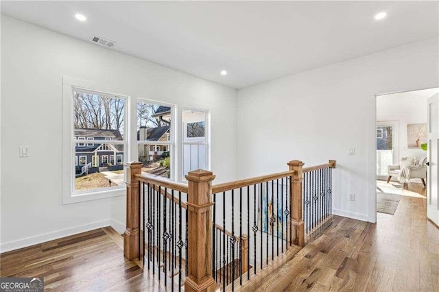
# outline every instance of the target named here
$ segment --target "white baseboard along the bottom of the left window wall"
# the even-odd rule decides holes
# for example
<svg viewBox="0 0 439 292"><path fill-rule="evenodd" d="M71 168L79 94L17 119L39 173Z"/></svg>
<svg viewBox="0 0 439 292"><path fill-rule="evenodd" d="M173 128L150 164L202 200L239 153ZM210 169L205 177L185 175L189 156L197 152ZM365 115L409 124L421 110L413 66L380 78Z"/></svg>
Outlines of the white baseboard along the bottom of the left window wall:
<svg viewBox="0 0 439 292"><path fill-rule="evenodd" d="M10 252L11 250L18 250L19 248L28 247L31 245L36 245L38 243L45 243L47 241L53 241L55 239L60 239L62 237L75 235L81 232L86 232L90 230L94 230L97 228L103 228L106 226L111 226L117 232L123 233L125 230L125 224L120 223L118 221L107 219L102 221L97 221L93 223L88 223L80 226L75 226L72 228L67 228L63 230L58 230L54 232L48 232L45 234L40 234L36 236L30 236L25 239L20 239L18 241L11 241L9 243L2 243L0 245L0 254L3 252Z"/></svg>

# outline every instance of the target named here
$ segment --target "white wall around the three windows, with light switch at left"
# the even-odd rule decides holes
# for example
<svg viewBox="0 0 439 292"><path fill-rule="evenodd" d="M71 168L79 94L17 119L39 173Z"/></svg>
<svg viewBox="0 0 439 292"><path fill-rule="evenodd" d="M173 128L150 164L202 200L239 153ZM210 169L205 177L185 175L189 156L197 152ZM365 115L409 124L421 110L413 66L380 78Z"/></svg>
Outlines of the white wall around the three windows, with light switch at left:
<svg viewBox="0 0 439 292"><path fill-rule="evenodd" d="M1 60L1 251L125 223L125 197L61 204L62 77L211 110L215 182L235 179L236 90L8 16ZM19 158L20 145L29 158Z"/></svg>

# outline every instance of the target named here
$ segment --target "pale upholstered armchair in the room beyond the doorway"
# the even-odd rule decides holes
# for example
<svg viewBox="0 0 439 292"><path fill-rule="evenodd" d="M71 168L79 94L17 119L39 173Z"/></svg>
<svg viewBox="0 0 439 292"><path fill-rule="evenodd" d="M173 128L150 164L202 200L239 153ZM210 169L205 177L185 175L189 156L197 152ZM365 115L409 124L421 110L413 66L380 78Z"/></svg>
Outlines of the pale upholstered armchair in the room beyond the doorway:
<svg viewBox="0 0 439 292"><path fill-rule="evenodd" d="M420 178L425 186L425 179L427 178L427 158L425 157L403 157L399 165L388 166L387 182L390 182L392 176L397 176L399 182L403 186L407 186L411 178Z"/></svg>

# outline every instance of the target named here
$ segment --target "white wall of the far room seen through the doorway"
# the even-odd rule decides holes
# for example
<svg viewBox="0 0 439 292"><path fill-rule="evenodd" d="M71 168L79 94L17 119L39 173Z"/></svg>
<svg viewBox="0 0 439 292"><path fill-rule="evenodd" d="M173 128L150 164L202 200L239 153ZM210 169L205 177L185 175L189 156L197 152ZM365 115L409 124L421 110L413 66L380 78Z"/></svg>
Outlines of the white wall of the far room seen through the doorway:
<svg viewBox="0 0 439 292"><path fill-rule="evenodd" d="M377 97L377 121L399 122L399 157L396 158L397 161L405 156L427 156L427 151L423 149L407 147L407 125L427 123L429 95L417 93L419 91Z"/></svg>

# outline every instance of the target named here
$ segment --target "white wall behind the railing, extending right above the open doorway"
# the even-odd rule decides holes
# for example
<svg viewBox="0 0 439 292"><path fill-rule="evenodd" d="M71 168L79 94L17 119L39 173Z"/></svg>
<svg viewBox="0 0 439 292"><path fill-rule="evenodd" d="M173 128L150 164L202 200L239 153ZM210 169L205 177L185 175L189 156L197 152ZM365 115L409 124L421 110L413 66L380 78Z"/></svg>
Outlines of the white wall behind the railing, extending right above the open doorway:
<svg viewBox="0 0 439 292"><path fill-rule="evenodd" d="M335 159L335 213L376 221L375 95L437 87L438 49L424 40L238 90L237 173Z"/></svg>

